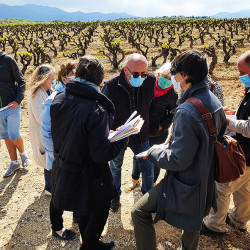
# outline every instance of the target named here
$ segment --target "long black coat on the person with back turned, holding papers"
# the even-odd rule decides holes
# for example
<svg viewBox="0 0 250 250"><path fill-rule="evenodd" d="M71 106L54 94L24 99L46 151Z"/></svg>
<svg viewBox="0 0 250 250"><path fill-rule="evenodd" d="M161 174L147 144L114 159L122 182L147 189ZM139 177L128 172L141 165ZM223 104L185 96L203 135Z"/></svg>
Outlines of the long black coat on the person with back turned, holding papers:
<svg viewBox="0 0 250 250"><path fill-rule="evenodd" d="M112 102L77 80L66 85L51 105L54 206L88 214L98 195L112 199L115 189L108 161L126 147L127 140L110 143L114 117Z"/></svg>

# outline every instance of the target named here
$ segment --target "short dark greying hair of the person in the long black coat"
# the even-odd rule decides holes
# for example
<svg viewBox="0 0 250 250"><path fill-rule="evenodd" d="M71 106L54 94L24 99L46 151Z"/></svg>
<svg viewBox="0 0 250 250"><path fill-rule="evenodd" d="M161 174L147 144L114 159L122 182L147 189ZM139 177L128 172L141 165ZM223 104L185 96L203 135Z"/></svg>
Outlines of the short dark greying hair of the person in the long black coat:
<svg viewBox="0 0 250 250"><path fill-rule="evenodd" d="M87 55L79 59L76 65L76 77L80 77L99 86L104 78L104 66L93 56Z"/></svg>

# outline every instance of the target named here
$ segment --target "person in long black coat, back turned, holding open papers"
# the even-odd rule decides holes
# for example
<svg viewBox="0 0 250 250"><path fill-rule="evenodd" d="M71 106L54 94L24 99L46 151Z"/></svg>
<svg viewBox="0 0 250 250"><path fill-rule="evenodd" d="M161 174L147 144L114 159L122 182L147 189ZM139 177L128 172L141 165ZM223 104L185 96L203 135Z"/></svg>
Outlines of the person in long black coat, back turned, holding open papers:
<svg viewBox="0 0 250 250"><path fill-rule="evenodd" d="M100 241L115 195L108 161L128 140L108 139L115 109L98 88L104 78L101 62L81 57L75 76L50 108L55 156L52 201L55 208L78 214L81 249L111 249L113 241Z"/></svg>

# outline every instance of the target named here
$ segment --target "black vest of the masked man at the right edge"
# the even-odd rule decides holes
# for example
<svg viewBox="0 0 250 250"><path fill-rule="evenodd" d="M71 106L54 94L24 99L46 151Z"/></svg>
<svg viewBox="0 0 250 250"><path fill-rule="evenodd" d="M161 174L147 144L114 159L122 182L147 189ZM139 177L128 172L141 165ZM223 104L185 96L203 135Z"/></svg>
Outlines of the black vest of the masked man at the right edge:
<svg viewBox="0 0 250 250"><path fill-rule="evenodd" d="M250 89L246 91L240 106L236 113L237 120L249 120L250 117ZM250 138L236 133L236 139L239 142L246 156L246 165L250 166Z"/></svg>

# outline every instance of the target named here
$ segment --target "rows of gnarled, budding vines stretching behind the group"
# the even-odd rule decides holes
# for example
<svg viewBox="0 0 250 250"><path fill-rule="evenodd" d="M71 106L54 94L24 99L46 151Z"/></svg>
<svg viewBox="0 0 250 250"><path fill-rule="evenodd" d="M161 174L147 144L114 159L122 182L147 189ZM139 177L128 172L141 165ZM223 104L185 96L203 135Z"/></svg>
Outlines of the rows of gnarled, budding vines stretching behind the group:
<svg viewBox="0 0 250 250"><path fill-rule="evenodd" d="M211 57L212 74L218 50L227 64L236 49L247 49L249 42L250 18L0 25L0 48L22 65L23 74L29 66L58 57L77 59L90 46L115 69L131 52L143 54L154 67L160 59L173 60L184 48L196 48Z"/></svg>

